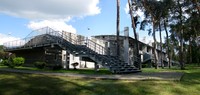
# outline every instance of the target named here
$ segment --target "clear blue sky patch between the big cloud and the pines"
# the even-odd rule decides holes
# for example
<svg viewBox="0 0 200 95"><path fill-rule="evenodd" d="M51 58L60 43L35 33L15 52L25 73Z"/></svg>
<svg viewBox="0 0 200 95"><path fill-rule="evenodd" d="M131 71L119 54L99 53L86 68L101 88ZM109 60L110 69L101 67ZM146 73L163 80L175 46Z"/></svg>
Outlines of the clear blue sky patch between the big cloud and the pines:
<svg viewBox="0 0 200 95"><path fill-rule="evenodd" d="M130 19L125 13L126 0L121 0L120 10L120 30L122 31L125 26L129 26ZM99 34L116 34L116 0L101 0L99 5L101 13L95 16L88 16L84 19L80 19L71 24L77 27L77 33L84 33L88 31L87 35L99 35ZM83 32L82 32L83 31ZM83 34L83 35L84 35Z"/></svg>

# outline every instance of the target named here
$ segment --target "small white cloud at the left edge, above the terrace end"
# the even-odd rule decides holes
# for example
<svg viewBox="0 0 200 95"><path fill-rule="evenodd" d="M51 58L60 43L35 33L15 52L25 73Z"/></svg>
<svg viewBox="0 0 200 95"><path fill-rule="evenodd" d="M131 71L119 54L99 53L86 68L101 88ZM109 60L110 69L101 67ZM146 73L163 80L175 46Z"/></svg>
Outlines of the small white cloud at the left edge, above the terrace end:
<svg viewBox="0 0 200 95"><path fill-rule="evenodd" d="M10 36L10 35L6 35L6 34L1 34L0 33L0 45L3 45L3 43L5 42L9 42L9 41L14 41L14 40L19 40L20 38L17 38L17 37L13 37L13 36Z"/></svg>

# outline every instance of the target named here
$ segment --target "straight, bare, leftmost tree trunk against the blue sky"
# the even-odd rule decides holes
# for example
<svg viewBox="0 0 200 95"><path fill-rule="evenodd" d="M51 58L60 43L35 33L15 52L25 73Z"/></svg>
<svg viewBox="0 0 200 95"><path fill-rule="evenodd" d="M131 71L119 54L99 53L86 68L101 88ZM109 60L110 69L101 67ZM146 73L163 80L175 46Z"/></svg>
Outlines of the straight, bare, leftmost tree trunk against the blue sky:
<svg viewBox="0 0 200 95"><path fill-rule="evenodd" d="M119 40L119 32L120 32L120 0L117 0L117 56L120 57L120 40Z"/></svg>

